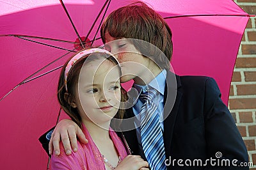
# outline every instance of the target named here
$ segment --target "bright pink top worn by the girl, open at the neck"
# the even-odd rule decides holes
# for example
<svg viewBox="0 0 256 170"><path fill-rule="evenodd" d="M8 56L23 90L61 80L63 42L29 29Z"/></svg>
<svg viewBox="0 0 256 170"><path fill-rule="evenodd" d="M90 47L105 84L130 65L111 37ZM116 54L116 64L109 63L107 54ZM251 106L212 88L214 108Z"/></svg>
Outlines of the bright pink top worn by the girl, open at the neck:
<svg viewBox="0 0 256 170"><path fill-rule="evenodd" d="M92 137L90 136L88 130L83 125L83 132L88 139L87 144L77 143L77 152L71 153L71 155L66 155L63 148L63 144L60 144L60 156L52 154L51 167L52 169L105 169L105 164L103 158L100 155L95 143L93 143ZM116 135L115 131L109 128L109 135L116 147L116 151L123 160L127 156L127 151L125 146Z"/></svg>

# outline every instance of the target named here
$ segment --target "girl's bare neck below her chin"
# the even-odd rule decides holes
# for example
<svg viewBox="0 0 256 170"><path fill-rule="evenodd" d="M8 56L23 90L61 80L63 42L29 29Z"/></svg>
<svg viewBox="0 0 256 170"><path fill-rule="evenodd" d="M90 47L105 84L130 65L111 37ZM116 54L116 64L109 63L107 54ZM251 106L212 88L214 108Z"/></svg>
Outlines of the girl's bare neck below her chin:
<svg viewBox="0 0 256 170"><path fill-rule="evenodd" d="M94 142L101 142L106 141L110 139L109 137L109 126L110 121L101 125L97 125L96 123L93 123L92 121L83 120L83 123L90 133L92 139Z"/></svg>

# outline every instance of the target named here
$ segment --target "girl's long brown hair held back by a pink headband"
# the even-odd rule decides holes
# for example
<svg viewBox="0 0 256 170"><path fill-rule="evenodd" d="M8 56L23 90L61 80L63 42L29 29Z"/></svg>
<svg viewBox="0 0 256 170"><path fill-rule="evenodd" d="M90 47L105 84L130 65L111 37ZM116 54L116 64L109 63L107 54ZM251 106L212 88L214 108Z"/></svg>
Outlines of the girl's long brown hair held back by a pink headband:
<svg viewBox="0 0 256 170"><path fill-rule="evenodd" d="M74 56L76 54L74 54ZM72 56L71 58L73 58L74 56ZM90 56L90 57L88 58L88 56ZM77 111L77 109L72 107L70 104L72 103L72 101L74 100L74 97L75 97L74 96L75 95L75 87L77 86L80 71L81 71L81 68L84 65L85 61L86 61L86 63L88 63L90 61L95 61L97 59L102 59L102 58L106 58L109 61L111 61L111 63L113 63L114 65L117 65L119 68L120 76L121 76L121 68L118 65L118 61L116 61L116 59L113 58L113 56L109 56L108 54L102 53L102 52L95 52L92 54L88 54L88 55L84 56L83 58L80 58L78 61L76 61L76 63L70 69L70 72L68 72L68 77L67 77L68 92L65 88L64 74L65 74L65 68L68 64L68 61L70 61L70 59L68 59L68 61L65 63L65 65L63 65L63 68L61 70L60 79L59 79L59 83L58 83L58 101L61 105L61 108L68 114L68 116L70 116L70 118L74 122L77 123L77 125L79 125L79 127L81 127L81 125L82 125L81 116L79 115L79 112ZM65 93L68 93L68 95L65 96ZM121 87L121 93L122 93L121 94L121 104L122 104L126 100L126 97L125 97L126 92L122 87ZM117 114L115 115L115 118L122 119L124 117L124 112L125 112L124 109L119 109Z"/></svg>

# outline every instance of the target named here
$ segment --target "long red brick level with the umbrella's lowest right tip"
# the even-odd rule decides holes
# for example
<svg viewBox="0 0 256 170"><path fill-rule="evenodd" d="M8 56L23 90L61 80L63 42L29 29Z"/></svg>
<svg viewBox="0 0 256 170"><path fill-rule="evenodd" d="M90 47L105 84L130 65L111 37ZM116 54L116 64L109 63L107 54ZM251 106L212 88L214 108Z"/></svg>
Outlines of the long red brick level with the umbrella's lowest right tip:
<svg viewBox="0 0 256 170"><path fill-rule="evenodd" d="M230 109L255 109L256 98L230 98Z"/></svg>

